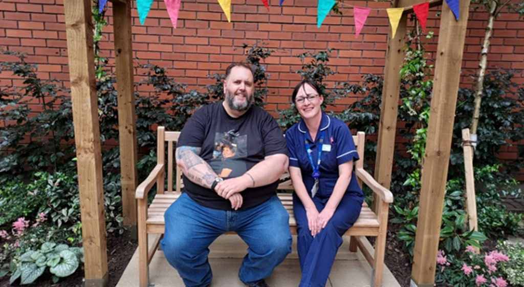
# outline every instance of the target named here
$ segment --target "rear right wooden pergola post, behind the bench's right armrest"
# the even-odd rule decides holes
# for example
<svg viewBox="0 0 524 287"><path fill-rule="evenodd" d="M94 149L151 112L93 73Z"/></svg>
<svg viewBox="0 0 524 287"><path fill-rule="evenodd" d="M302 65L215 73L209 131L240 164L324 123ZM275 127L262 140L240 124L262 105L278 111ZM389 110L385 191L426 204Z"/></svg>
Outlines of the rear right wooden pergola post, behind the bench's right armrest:
<svg viewBox="0 0 524 287"><path fill-rule="evenodd" d="M382 90L382 104L380 122L378 125L377 158L375 160L375 179L386 187L391 186L391 169L395 153L395 137L397 131L397 115L400 94L400 69L404 59L406 46L406 31L408 14L403 14L398 24L395 38L391 38L389 28L388 50L386 67L384 68L384 88ZM376 199L374 197L374 199ZM376 209L377 200L373 200L373 210Z"/></svg>

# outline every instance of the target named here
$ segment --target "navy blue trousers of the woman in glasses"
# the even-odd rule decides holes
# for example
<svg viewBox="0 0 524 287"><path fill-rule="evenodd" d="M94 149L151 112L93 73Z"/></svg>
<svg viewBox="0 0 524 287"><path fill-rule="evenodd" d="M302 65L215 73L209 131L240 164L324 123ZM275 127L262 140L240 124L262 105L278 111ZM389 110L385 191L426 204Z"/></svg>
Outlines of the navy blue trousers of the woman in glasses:
<svg viewBox="0 0 524 287"><path fill-rule="evenodd" d="M313 198L316 209L322 211L329 198L318 195ZM342 236L360 215L364 198L345 194L324 229L314 238L308 227L302 201L293 194L293 212L297 220L297 249L302 278L299 287L324 287L335 261L336 252L342 245Z"/></svg>

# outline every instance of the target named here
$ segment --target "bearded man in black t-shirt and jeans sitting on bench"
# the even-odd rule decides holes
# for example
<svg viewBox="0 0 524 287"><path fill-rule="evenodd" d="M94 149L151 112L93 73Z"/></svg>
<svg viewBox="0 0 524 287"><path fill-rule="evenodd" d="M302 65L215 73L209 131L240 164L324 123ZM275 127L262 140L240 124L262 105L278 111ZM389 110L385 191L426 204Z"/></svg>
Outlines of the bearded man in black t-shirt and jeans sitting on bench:
<svg viewBox="0 0 524 287"><path fill-rule="evenodd" d="M226 232L249 247L238 271L248 286L268 286L265 279L291 252L289 215L276 195L288 168L286 141L275 119L253 105L254 90L252 67L233 63L225 100L197 110L180 134L184 189L165 213L161 247L186 286L211 283L209 246ZM216 153L224 146L235 147L227 161ZM222 178L224 168L232 171Z"/></svg>

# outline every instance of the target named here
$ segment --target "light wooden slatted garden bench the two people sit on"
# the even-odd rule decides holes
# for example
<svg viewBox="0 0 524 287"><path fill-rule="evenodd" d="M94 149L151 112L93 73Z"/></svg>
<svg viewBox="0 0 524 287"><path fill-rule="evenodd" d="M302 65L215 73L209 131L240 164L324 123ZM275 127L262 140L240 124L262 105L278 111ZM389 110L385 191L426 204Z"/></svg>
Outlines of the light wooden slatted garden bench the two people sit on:
<svg viewBox="0 0 524 287"><path fill-rule="evenodd" d="M182 174L180 169L174 162L174 150L180 132L166 132L163 126L158 127L158 141L157 141L157 165L149 176L136 189L136 198L138 200L138 264L139 264L139 278L140 287L148 287L149 285L149 263L159 247L160 239L164 232L164 217L163 214L167 208L180 195L182 189ZM386 231L388 224L388 209L389 204L393 202L393 195L391 192L379 185L375 179L364 170L364 132L358 132L353 136L353 140L357 147L359 157L362 159L355 164L355 173L358 178L358 183L362 186L364 183L378 198L376 204L377 210L374 212L366 203L364 203L361 215L355 222L355 225L347 230L346 236L351 236L350 251L356 252L357 247L364 254L364 257L372 267L372 285L381 286L382 275L384 270L384 255L386 248ZM167 143L167 166L166 166L166 150ZM165 190L165 177L167 168L167 190ZM173 175L176 178L176 185L173 186ZM283 179L286 177L283 176ZM148 206L148 192L156 184L157 194L153 199L151 205ZM292 190L291 180L284 180L279 185L280 190ZM292 197L289 193L279 193L278 197L282 201L283 206L289 212L289 227L292 234L297 234L297 223L293 216ZM152 246L148 248L148 234L156 233ZM359 238L360 236L376 237L374 256L370 254L364 243Z"/></svg>

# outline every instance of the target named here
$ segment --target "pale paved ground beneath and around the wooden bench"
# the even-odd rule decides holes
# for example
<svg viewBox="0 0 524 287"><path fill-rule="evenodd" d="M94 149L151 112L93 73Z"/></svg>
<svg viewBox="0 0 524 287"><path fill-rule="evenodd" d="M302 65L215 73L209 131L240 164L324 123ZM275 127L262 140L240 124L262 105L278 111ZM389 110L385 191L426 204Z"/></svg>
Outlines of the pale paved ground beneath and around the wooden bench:
<svg viewBox="0 0 524 287"><path fill-rule="evenodd" d="M150 237L151 242L153 237ZM293 236L293 252L280 264L266 282L271 287L296 287L300 282L300 266ZM372 247L364 239L368 249ZM237 235L223 235L210 247L210 264L213 270L211 287L245 287L238 279L238 268L247 252L247 245ZM373 254L373 253L372 253ZM349 252L349 238L337 254L326 287L365 287L371 284L372 269L361 252ZM184 286L178 272L166 261L162 251L157 251L149 266L150 284L154 287ZM384 270L384 287L400 287L387 267ZM117 287L138 286L138 254L135 252Z"/></svg>

